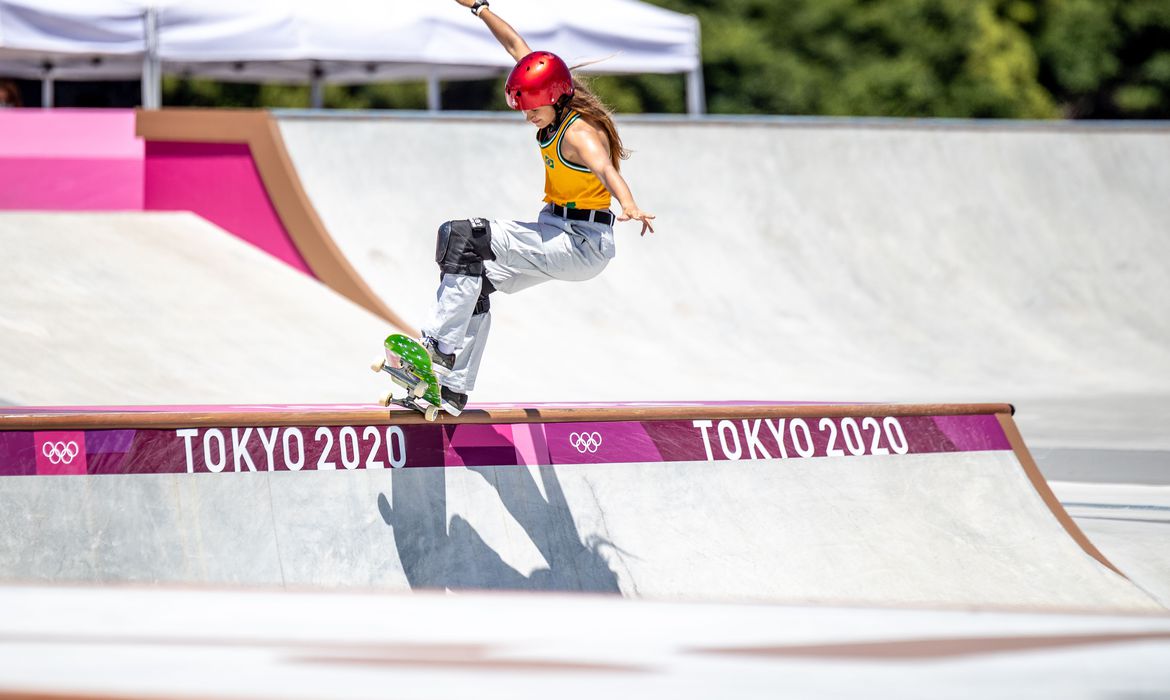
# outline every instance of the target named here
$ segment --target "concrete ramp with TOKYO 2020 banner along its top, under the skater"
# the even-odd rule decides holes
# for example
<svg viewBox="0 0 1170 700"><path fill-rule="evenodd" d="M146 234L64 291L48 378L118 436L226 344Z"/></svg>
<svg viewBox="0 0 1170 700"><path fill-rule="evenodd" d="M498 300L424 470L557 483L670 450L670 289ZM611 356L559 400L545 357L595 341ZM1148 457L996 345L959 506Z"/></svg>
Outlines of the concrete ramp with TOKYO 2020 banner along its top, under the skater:
<svg viewBox="0 0 1170 700"><path fill-rule="evenodd" d="M0 411L0 576L1149 611L1007 406Z"/></svg>

